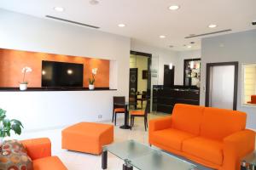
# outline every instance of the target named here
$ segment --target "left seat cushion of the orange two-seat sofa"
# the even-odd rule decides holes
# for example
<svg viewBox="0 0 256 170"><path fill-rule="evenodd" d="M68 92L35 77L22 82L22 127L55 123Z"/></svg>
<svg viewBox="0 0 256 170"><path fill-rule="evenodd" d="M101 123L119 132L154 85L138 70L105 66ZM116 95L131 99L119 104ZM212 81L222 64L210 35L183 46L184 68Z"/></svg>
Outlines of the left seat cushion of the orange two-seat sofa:
<svg viewBox="0 0 256 170"><path fill-rule="evenodd" d="M152 133L152 139L155 143L165 145L174 150L182 150L182 144L185 139L194 138L195 135L186 133L173 128L155 131Z"/></svg>

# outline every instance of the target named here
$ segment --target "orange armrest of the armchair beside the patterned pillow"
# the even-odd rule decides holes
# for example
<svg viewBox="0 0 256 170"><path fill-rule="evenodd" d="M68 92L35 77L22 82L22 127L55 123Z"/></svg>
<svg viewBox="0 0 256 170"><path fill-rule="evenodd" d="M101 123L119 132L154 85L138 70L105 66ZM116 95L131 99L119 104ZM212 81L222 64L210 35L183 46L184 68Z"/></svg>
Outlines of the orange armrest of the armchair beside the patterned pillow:
<svg viewBox="0 0 256 170"><path fill-rule="evenodd" d="M26 147L27 154L32 160L51 156L51 143L48 138L27 139L21 143Z"/></svg>

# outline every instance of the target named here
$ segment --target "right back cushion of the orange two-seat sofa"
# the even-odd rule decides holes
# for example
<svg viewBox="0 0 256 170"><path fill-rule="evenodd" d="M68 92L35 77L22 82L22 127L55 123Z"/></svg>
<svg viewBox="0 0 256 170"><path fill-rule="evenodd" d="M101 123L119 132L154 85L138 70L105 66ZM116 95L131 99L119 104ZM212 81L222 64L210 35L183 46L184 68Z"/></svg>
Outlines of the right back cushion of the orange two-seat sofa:
<svg viewBox="0 0 256 170"><path fill-rule="evenodd" d="M204 111L201 122L201 136L222 140L232 133L244 130L246 119L246 113L241 111L208 107Z"/></svg>

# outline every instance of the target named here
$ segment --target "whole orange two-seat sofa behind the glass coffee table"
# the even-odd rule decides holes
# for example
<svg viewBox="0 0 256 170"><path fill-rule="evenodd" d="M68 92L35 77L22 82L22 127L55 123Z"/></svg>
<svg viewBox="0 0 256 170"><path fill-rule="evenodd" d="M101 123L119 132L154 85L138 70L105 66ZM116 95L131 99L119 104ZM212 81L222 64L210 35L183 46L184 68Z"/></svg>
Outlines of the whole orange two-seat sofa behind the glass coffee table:
<svg viewBox="0 0 256 170"><path fill-rule="evenodd" d="M218 170L240 169L240 159L255 147L241 111L177 104L172 116L149 122L148 142Z"/></svg>

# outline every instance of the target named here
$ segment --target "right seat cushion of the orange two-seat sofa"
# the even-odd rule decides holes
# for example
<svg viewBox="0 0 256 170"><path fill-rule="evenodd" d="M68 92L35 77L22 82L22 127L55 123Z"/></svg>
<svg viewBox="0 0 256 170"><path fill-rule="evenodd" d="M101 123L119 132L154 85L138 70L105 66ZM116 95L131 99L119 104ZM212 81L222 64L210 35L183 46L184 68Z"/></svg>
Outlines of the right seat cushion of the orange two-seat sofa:
<svg viewBox="0 0 256 170"><path fill-rule="evenodd" d="M223 163L223 143L218 140L195 137L183 141L183 152L210 161L217 165Z"/></svg>

